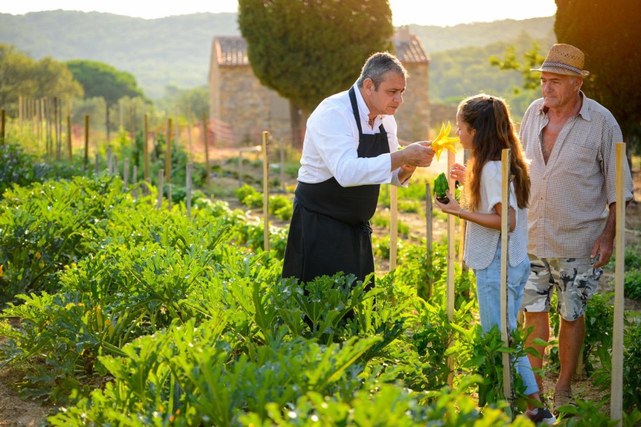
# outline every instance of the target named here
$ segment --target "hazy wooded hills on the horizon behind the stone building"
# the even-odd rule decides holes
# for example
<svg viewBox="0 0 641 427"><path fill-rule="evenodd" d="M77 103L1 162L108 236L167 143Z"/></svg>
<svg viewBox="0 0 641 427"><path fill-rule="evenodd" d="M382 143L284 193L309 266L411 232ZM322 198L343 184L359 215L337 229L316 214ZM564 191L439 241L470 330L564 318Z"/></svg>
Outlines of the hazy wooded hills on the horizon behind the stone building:
<svg viewBox="0 0 641 427"><path fill-rule="evenodd" d="M411 25L432 58L430 96L448 101L479 90L509 93L520 76L489 65L490 55L524 40L554 42L554 17L460 24ZM527 33L524 35L522 33ZM103 61L131 72L149 97L165 86L206 84L214 35L237 35L236 13L192 13L141 19L112 13L55 10L26 15L0 14L0 42L15 44L33 58ZM548 42L542 43L542 51ZM454 102L454 100L449 100Z"/></svg>

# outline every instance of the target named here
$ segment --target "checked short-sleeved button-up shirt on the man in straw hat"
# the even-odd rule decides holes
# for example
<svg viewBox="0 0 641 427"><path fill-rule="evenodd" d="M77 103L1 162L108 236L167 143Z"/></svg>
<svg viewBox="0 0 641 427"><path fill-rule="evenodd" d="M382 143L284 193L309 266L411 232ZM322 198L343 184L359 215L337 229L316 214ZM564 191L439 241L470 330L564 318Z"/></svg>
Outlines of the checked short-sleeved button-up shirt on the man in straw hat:
<svg viewBox="0 0 641 427"><path fill-rule="evenodd" d="M578 115L570 117L547 160L541 151L547 108L534 101L520 127L529 163L528 253L539 258L587 258L605 228L607 207L616 202L615 143L623 141L612 113L583 92ZM632 200L626 161L626 200Z"/></svg>

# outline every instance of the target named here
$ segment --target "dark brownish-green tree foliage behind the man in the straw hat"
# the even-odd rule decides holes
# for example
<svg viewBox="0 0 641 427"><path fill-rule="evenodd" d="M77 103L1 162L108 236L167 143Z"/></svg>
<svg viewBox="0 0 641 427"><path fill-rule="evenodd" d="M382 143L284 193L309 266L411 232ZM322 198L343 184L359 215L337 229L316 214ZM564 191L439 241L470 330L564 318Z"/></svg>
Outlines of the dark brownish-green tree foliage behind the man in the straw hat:
<svg viewBox="0 0 641 427"><path fill-rule="evenodd" d="M636 11L635 11L636 12ZM585 53L583 90L588 97L609 109L619 122L624 141L639 145L641 94L637 78L641 74L638 40L641 28L636 25L638 13L631 12L628 0L596 0L585 4L556 0L554 32L560 43L579 47ZM603 28L625 28L625 31L602 31ZM626 102L620 102L622 98Z"/></svg>

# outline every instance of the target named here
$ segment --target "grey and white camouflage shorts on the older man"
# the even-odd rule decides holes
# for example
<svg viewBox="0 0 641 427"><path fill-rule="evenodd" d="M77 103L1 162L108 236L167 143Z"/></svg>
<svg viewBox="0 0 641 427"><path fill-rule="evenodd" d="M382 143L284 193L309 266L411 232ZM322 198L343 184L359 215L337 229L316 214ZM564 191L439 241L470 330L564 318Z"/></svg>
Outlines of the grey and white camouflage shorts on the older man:
<svg viewBox="0 0 641 427"><path fill-rule="evenodd" d="M558 303L556 310L567 321L574 321L585 313L603 275L601 268L594 268L592 258L544 258L528 254L530 271L523 291L521 310L546 312L554 287Z"/></svg>

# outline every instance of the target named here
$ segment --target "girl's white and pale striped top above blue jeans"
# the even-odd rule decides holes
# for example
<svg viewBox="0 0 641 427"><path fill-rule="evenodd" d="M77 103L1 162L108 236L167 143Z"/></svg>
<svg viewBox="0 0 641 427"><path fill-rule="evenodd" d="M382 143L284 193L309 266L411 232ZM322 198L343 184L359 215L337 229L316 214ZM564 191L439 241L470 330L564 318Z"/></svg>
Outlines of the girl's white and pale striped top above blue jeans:
<svg viewBox="0 0 641 427"><path fill-rule="evenodd" d="M494 205L501 203L501 162L488 161L481 172L478 213L496 213ZM508 258L511 266L517 266L528 257L528 209L519 209L514 193L514 183L510 182L510 206L517 215L517 225L508 234ZM501 230L488 229L483 225L468 221L465 230L465 251L463 260L471 268L487 268L497 250Z"/></svg>

